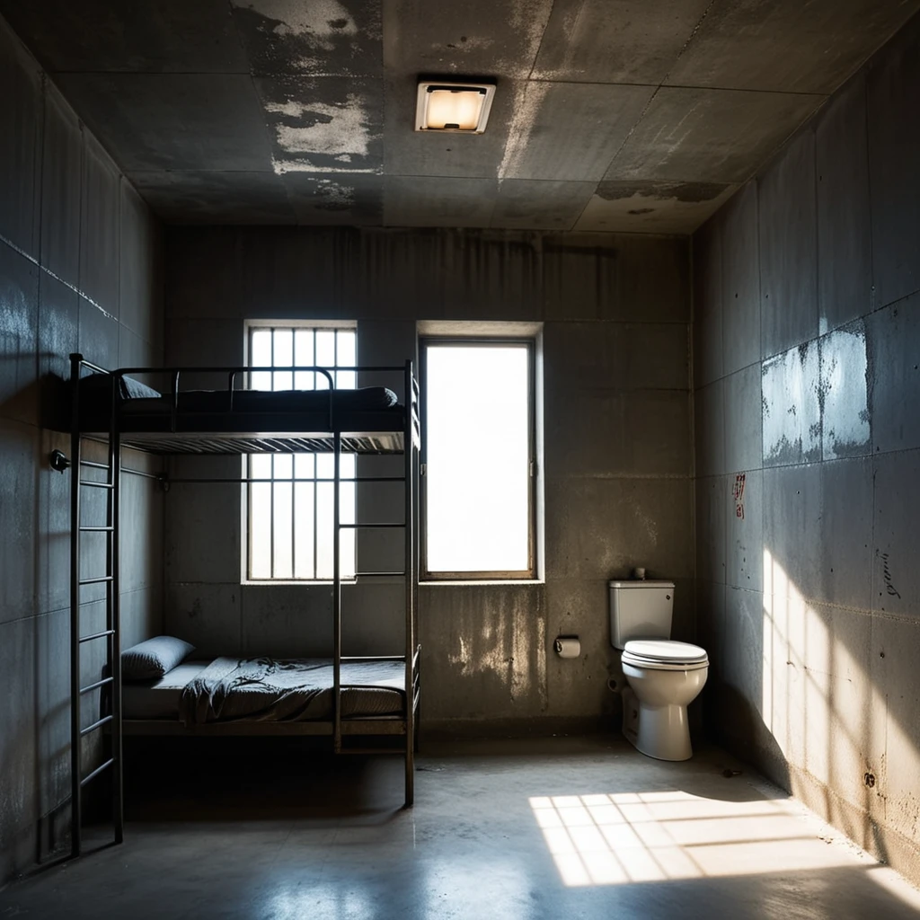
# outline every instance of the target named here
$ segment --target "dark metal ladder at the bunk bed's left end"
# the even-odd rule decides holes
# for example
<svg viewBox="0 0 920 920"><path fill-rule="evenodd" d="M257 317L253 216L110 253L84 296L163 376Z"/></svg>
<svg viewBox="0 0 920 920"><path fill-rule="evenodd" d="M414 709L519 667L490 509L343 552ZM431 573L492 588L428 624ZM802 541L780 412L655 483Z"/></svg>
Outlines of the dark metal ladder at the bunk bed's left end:
<svg viewBox="0 0 920 920"><path fill-rule="evenodd" d="M78 381L86 362L81 355L71 355L72 381ZM88 365L92 367L92 365ZM95 368L93 368L95 370ZM115 843L120 844L124 832L124 811L121 773L121 598L119 594L119 511L121 500L121 448L114 424L109 434L109 462L96 463L82 458L82 438L79 425L79 387L74 386L74 426L71 433L71 541L70 541L70 692L71 692L71 855L82 850L83 803L82 790L107 770L111 772L112 823ZM114 412L113 412L114 421ZM105 481L84 479L84 469L106 471ZM106 493L106 523L86 525L81 519L81 498L84 489L104 489ZM103 575L80 577L81 535L105 534L106 570ZM106 586L106 627L98 632L81 635L81 589L86 585ZM98 680L86 686L80 684L81 650L86 643L106 643L106 670ZM81 702L86 694L99 690L101 698L108 692L109 711L100 714L91 724L82 725ZM109 756L83 775L83 739L94 731L109 726Z"/></svg>

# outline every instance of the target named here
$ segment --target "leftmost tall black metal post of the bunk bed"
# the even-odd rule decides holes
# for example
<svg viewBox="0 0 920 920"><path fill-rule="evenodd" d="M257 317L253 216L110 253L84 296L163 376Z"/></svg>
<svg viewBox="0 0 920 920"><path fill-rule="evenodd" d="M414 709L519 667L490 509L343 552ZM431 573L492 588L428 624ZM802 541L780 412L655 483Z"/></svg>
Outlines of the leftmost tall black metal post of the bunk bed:
<svg viewBox="0 0 920 920"><path fill-rule="evenodd" d="M80 362L83 355L70 356L70 845L71 855L80 855L80 824L83 818L80 796Z"/></svg>

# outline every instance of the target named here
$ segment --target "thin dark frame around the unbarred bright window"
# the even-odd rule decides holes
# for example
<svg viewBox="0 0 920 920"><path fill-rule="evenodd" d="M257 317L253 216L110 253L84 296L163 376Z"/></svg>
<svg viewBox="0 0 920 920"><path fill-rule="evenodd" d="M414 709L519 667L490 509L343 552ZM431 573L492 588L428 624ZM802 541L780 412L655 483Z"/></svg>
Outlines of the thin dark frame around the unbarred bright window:
<svg viewBox="0 0 920 920"><path fill-rule="evenodd" d="M527 569L489 569L482 571L432 571L428 567L428 349L439 346L494 347L509 345L527 351L527 449L529 454L527 489ZM419 374L421 403L421 489L420 489L420 581L536 581L537 580L537 444L536 444L536 355L535 336L503 335L426 335L419 339Z"/></svg>

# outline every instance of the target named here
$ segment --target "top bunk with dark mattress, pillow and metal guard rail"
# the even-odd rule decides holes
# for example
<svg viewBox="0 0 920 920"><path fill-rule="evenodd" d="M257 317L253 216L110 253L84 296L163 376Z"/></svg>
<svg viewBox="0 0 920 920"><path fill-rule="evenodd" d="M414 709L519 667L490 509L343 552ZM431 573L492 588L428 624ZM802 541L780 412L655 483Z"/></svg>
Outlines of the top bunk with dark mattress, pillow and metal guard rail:
<svg viewBox="0 0 920 920"><path fill-rule="evenodd" d="M291 454L334 449L402 454L420 446L419 383L412 362L401 367L284 368L315 374L315 389L254 389L256 374L277 367L127 367L107 370L71 356L75 433L108 438L151 454ZM336 388L334 374L403 374L405 404L385 386ZM220 374L221 389L183 388L190 378ZM160 391L135 379L165 380Z"/></svg>

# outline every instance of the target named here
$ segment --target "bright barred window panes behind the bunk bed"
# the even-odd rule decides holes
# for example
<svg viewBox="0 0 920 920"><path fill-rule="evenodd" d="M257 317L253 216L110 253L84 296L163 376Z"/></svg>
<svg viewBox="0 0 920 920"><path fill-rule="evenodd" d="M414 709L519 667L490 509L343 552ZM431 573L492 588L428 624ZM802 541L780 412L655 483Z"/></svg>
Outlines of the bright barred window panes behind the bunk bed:
<svg viewBox="0 0 920 920"><path fill-rule="evenodd" d="M259 390L328 389L323 374L293 367L332 370L354 367L352 328L323 326L250 327L248 366L277 370L249 374ZM332 374L337 389L353 389L353 371ZM333 456L249 454L247 457L247 572L251 581L329 581L333 577ZM355 522L355 456L341 455L339 520ZM341 577L355 573L354 530L341 532Z"/></svg>

